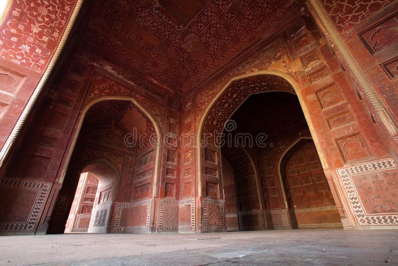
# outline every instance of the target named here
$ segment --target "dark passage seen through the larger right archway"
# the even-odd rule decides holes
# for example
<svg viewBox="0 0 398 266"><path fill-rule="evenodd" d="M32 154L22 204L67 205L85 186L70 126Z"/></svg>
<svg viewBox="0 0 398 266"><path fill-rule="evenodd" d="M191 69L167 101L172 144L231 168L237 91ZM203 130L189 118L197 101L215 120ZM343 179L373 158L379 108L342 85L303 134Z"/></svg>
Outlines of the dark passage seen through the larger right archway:
<svg viewBox="0 0 398 266"><path fill-rule="evenodd" d="M227 123L221 158L228 231L342 227L296 95L251 95Z"/></svg>

